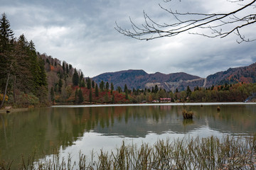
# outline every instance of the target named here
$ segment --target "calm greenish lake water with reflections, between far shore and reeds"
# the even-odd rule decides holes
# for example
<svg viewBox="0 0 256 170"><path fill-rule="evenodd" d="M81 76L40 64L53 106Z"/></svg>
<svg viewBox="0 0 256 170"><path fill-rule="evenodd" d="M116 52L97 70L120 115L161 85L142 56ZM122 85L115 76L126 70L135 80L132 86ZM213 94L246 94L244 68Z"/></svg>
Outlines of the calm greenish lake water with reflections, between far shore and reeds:
<svg viewBox="0 0 256 170"><path fill-rule="evenodd" d="M220 106L220 112L217 111ZM193 111L193 120L183 120L182 111ZM13 167L35 149L50 157L53 147L66 157L79 152L90 156L114 150L124 141L140 145L157 140L175 140L211 135L252 135L256 132L256 105L129 105L61 106L34 108L0 114L0 158L14 159Z"/></svg>

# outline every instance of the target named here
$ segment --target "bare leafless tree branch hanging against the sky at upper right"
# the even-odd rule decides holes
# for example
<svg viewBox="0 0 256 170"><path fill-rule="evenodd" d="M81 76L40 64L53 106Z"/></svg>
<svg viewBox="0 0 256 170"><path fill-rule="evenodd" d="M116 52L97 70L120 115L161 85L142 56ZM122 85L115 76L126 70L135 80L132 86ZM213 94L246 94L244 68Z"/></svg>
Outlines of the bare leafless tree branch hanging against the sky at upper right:
<svg viewBox="0 0 256 170"><path fill-rule="evenodd" d="M171 0L164 0L170 2ZM228 0L230 3L240 3L245 0ZM225 38L230 33L238 35L237 42L250 42L255 39L245 38L242 35L241 29L250 27L256 22L256 13L252 13L252 8L256 6L256 0L250 1L247 4L239 4L240 8L228 13L179 13L166 9L159 4L160 8L171 14L176 21L174 23L159 23L151 19L145 12L144 23L141 26L135 24L130 18L132 24L131 29L125 29L119 26L116 22L115 29L126 36L138 40L153 40L156 38L173 37L180 33L188 32L190 34L203 35L208 38ZM244 16L241 16L241 13ZM184 19L185 18L185 19ZM200 30L208 29L211 33L195 32L196 28Z"/></svg>

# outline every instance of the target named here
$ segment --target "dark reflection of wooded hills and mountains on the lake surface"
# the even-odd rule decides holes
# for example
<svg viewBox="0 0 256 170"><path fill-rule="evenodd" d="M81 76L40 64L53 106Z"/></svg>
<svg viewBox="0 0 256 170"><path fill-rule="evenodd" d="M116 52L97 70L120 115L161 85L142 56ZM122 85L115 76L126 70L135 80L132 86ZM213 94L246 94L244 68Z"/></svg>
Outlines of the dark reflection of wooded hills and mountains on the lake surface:
<svg viewBox="0 0 256 170"><path fill-rule="evenodd" d="M252 133L256 106L186 106L196 114L183 121L183 106L117 106L96 108L39 108L1 115L0 157L19 160L34 149L46 154L52 147L73 145L84 132L121 137L145 137L149 132L186 133L208 127L223 133Z"/></svg>

